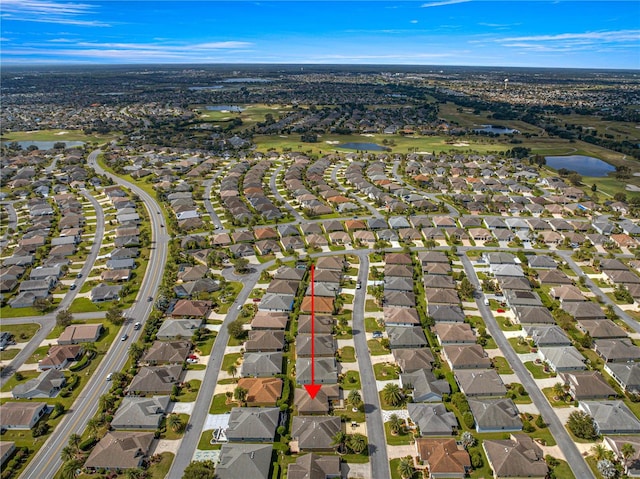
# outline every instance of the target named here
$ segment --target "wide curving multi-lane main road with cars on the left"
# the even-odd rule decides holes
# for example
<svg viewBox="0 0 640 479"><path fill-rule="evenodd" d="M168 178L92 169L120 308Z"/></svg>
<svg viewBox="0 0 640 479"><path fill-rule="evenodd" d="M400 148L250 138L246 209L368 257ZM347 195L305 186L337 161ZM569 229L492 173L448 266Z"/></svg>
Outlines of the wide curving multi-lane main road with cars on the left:
<svg viewBox="0 0 640 479"><path fill-rule="evenodd" d="M164 221L164 217L156 213L160 211L160 207L155 200L137 186L113 176L100 168L96 163L96 159L100 153L100 150L96 150L89 155L87 159L89 166L93 167L97 173L106 174L117 184L129 188L133 193L137 194L146 206L151 218L152 240L155 241L155 249L151 250L149 265L142 284L140 285L137 301L132 308L125 311L126 316L134 318L135 321L144 322L153 306L153 303L148 302L146 298L147 296L155 296L160 281L162 280L162 273L167 260L167 243L169 236L165 228L160 226ZM92 264L93 263L91 263L91 265ZM88 267L90 268L89 263ZM131 341L137 341L140 334L142 334L142 329L135 331L133 329L133 322L128 322L122 327L118 337L123 333L127 333L130 339L128 341L116 340L113 342L94 375L88 379L88 383L83 389L82 394L76 399L72 408L65 414L54 433L20 475L21 478L50 479L54 477L62 465L60 452L67 444L69 435L72 433L81 434L87 421L94 416L98 407L98 399L101 395L108 392L110 387L110 383L105 381L106 375L113 371L120 371L123 368L127 360L129 345Z"/></svg>

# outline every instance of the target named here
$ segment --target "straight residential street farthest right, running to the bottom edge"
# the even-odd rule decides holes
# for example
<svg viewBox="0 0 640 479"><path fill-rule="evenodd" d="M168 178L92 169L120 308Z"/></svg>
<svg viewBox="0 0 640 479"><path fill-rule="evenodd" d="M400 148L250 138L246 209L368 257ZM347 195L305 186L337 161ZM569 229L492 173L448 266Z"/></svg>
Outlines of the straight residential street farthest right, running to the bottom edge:
<svg viewBox="0 0 640 479"><path fill-rule="evenodd" d="M467 278L471 281L477 291L482 291L480 281L478 280L478 276L476 275L471 261L464 253L461 254L460 257L462 259ZM580 451L549 404L549 401L547 401L547 398L544 396L542 391L540 391L540 388L529 374L527 368L524 367L524 364L520 361L520 358L518 358L513 347L511 347L511 343L507 341L507 338L502 333L500 326L498 326L497 321L493 317L491 309L489 306L485 306L481 296L482 295L479 295L476 299L476 304L478 305L480 314L482 314L482 319L484 319L489 335L493 337L500 348L500 351L502 351L502 354L509 362L509 365L511 365L511 368L517 374L520 383L529 393L529 397L538 408L538 411L540 411L540 414L542 414L544 421L549 425L549 431L551 431L551 434L553 434L558 446L564 453L573 474L579 479L593 478L593 473L582 457L582 454L580 454Z"/></svg>

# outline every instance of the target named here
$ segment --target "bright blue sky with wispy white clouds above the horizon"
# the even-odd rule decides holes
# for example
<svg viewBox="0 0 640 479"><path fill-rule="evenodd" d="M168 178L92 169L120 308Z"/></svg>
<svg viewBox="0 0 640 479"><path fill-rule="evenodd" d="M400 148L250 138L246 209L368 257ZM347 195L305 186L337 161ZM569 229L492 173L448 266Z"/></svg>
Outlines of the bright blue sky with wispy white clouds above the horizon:
<svg viewBox="0 0 640 479"><path fill-rule="evenodd" d="M2 0L3 64L640 69L640 1Z"/></svg>

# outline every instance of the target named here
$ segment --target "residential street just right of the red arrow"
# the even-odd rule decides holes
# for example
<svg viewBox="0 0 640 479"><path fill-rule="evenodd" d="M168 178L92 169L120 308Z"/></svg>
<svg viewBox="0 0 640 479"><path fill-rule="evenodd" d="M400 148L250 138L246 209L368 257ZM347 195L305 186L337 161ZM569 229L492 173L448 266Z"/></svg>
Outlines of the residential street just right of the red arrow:
<svg viewBox="0 0 640 479"><path fill-rule="evenodd" d="M362 384L362 399L364 401L365 420L367 423L367 437L369 438L369 465L375 479L390 479L389 457L387 456L387 441L384 435L384 423L380 408L380 397L373 373L371 355L367 346L364 327L364 304L367 295L367 280L369 278L369 254L364 251L353 251L360 259L358 281L361 289L356 289L353 300L353 341L360 369L360 383Z"/></svg>

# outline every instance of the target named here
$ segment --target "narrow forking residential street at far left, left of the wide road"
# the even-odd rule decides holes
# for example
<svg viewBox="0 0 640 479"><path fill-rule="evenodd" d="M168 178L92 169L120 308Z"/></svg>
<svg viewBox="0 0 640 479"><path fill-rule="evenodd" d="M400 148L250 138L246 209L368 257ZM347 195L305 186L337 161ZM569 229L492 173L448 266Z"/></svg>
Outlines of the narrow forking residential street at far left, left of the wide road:
<svg viewBox="0 0 640 479"><path fill-rule="evenodd" d="M71 303L73 303L73 300L76 298L76 295L80 292L80 290L82 289L82 285L89 276L91 268L93 268L93 263L95 263L96 258L98 257L100 245L102 244L102 237L104 236L104 212L102 211L102 206L100 206L100 203L98 203L98 201L93 196L91 196L89 192L83 189L82 195L91 202L96 211L96 232L94 235L93 244L91 245L91 251L87 255L85 264L80 270L80 273L82 273L82 277L75 280L75 283L77 285L76 289L73 291L67 291L65 297L62 298L62 301L60 301L60 304L52 313L49 313L45 316L29 316L26 318L11 318L2 320L5 324L24 324L27 322L38 323L40 324L40 329L31 338L29 344L21 349L16 357L13 358L13 360L9 363L9 365L3 369L2 376L0 377L0 387L4 386L4 384L11 378L13 373L16 372L18 368L22 366L25 361L33 355L42 341L47 338L51 330L56 325L56 313L62 309L67 309L71 305Z"/></svg>

